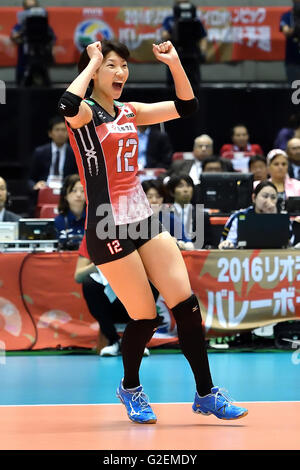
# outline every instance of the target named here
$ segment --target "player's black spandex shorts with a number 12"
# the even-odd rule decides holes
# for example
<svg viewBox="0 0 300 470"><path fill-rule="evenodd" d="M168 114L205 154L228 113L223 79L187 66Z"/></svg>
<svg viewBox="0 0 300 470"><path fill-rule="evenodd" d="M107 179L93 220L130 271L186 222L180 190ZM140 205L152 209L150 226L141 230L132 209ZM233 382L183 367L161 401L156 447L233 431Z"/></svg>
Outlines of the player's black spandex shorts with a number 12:
<svg viewBox="0 0 300 470"><path fill-rule="evenodd" d="M100 224L89 225L86 230L87 250L92 262L98 266L124 258L165 231L157 214L131 224L110 224L105 229Z"/></svg>

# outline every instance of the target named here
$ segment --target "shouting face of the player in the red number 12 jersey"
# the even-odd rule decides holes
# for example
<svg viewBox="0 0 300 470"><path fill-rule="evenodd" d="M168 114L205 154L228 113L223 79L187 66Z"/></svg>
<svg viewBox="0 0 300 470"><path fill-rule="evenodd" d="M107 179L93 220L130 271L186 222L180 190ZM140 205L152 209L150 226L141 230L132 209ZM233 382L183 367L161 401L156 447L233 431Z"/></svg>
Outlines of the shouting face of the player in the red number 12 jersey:
<svg viewBox="0 0 300 470"><path fill-rule="evenodd" d="M127 61L111 51L103 59L96 74L94 87L108 97L118 99L128 79Z"/></svg>

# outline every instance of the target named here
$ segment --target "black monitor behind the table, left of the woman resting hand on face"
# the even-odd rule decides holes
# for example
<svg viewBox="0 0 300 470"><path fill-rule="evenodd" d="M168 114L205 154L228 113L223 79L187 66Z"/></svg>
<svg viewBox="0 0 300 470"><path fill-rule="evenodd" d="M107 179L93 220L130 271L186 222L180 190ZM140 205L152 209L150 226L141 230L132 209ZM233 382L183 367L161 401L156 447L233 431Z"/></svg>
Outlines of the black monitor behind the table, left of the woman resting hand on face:
<svg viewBox="0 0 300 470"><path fill-rule="evenodd" d="M230 213L252 204L252 173L202 173L197 202L205 209Z"/></svg>

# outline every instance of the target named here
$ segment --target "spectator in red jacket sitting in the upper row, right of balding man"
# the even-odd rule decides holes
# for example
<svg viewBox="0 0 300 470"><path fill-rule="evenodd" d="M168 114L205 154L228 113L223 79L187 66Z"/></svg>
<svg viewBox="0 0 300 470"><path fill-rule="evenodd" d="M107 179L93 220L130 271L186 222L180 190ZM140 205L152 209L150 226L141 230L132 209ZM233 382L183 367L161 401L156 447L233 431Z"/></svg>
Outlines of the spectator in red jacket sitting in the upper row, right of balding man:
<svg viewBox="0 0 300 470"><path fill-rule="evenodd" d="M248 171L248 161L253 155L263 155L258 144L249 143L249 132L243 124L235 125L231 130L232 144L224 144L220 150L223 158L232 160L236 171Z"/></svg>

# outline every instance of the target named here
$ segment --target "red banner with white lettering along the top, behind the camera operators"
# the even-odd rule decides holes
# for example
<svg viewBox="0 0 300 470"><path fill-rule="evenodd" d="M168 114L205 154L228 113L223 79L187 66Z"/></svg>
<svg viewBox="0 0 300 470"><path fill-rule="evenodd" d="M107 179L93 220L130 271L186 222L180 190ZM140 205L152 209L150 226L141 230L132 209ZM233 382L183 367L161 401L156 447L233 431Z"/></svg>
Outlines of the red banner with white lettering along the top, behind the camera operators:
<svg viewBox="0 0 300 470"><path fill-rule="evenodd" d="M16 64L10 33L16 24L15 7L0 7L0 66ZM161 25L170 8L49 7L49 23L57 42L57 64L77 62L81 45L102 38L118 38L131 51L133 62L155 62L152 43L161 39ZM283 60L284 35L279 31L287 7L201 7L198 15L208 33L208 62Z"/></svg>

